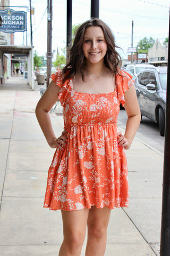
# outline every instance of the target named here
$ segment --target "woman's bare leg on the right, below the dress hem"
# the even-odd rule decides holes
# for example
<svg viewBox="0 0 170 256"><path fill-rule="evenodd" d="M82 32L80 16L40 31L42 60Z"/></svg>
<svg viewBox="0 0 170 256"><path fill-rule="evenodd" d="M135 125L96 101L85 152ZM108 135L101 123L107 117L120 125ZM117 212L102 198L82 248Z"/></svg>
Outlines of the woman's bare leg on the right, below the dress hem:
<svg viewBox="0 0 170 256"><path fill-rule="evenodd" d="M86 256L103 256L106 250L107 226L111 209L92 206L88 216L88 241Z"/></svg>

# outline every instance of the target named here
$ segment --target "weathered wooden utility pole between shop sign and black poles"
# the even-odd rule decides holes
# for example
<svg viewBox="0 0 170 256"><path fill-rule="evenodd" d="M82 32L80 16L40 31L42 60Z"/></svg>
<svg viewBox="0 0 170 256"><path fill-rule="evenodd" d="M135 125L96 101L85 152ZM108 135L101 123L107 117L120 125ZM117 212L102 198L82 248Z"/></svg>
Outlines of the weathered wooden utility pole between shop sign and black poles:
<svg viewBox="0 0 170 256"><path fill-rule="evenodd" d="M47 0L47 87L52 71L52 18L53 18L53 0Z"/></svg>

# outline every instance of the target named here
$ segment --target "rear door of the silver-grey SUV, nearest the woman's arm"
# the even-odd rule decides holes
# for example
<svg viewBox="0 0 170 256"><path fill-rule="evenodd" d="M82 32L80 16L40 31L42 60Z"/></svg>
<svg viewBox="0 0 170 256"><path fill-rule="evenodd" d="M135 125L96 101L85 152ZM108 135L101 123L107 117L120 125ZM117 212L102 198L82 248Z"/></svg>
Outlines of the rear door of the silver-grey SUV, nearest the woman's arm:
<svg viewBox="0 0 170 256"><path fill-rule="evenodd" d="M141 114L145 114L147 111L146 108L146 93L147 93L147 87L148 79L149 79L150 72L143 72L140 75L140 79L138 80L138 103L141 110Z"/></svg>

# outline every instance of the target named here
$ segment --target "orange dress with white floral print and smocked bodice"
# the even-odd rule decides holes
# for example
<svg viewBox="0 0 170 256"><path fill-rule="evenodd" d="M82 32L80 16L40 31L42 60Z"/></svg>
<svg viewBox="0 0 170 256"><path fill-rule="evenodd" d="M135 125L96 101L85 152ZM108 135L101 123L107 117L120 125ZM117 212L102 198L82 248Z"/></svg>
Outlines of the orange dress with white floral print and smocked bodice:
<svg viewBox="0 0 170 256"><path fill-rule="evenodd" d="M80 93L72 79L64 84L62 71L52 75L61 87L65 151L56 149L49 167L44 207L73 211L96 205L128 207L128 168L124 148L117 147L117 116L124 93L133 85L131 76L116 74L115 91Z"/></svg>

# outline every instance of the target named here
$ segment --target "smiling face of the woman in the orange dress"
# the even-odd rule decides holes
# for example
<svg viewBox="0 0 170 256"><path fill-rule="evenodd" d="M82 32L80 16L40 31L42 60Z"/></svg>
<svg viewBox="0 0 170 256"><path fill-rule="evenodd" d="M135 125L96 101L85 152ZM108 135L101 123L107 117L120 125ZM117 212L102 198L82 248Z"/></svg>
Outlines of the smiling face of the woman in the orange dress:
<svg viewBox="0 0 170 256"><path fill-rule="evenodd" d="M89 27L86 29L83 38L82 50L87 64L104 63L107 52L107 43L103 30L100 27Z"/></svg>

